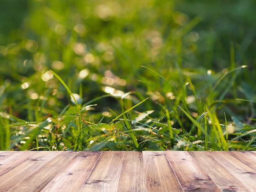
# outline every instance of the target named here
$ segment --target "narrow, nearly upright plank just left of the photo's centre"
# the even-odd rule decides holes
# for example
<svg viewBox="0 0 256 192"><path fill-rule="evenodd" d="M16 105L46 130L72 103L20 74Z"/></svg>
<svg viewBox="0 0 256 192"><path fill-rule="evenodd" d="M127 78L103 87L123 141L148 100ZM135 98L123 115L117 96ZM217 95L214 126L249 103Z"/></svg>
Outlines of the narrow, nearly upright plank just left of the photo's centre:
<svg viewBox="0 0 256 192"><path fill-rule="evenodd" d="M147 192L142 152L124 152L117 191Z"/></svg>

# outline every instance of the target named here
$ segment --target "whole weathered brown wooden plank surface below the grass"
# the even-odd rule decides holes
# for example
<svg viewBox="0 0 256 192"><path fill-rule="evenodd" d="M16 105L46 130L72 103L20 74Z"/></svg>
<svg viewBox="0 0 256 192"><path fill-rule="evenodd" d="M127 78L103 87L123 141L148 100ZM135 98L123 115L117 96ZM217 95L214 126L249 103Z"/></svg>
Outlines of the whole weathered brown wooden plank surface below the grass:
<svg viewBox="0 0 256 192"><path fill-rule="evenodd" d="M0 151L0 192L255 192L255 186L255 152Z"/></svg>

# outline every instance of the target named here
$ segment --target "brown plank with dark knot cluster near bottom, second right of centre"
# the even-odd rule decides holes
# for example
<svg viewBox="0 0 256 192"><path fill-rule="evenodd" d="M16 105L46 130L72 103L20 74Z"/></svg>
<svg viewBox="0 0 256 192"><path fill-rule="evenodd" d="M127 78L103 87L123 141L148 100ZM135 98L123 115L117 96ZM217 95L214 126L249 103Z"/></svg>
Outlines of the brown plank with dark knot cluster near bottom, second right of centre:
<svg viewBox="0 0 256 192"><path fill-rule="evenodd" d="M221 191L189 152L166 151L165 154L184 191Z"/></svg>

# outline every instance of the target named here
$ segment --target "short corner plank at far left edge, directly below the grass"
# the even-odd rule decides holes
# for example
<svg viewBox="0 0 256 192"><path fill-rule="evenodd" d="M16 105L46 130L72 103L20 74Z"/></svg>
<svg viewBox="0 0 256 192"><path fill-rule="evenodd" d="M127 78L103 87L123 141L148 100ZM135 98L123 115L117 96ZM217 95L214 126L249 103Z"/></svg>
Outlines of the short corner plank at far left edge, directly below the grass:
<svg viewBox="0 0 256 192"><path fill-rule="evenodd" d="M33 151L6 151L0 155L0 175L22 163L35 152Z"/></svg>

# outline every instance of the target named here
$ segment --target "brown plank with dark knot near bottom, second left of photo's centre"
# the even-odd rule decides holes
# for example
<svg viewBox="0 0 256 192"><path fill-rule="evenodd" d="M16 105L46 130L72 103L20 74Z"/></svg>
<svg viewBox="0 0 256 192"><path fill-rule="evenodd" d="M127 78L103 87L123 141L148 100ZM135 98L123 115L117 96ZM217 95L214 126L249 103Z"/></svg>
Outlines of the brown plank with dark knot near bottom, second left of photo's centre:
<svg viewBox="0 0 256 192"><path fill-rule="evenodd" d="M117 191L123 157L122 151L103 151L81 192Z"/></svg>

